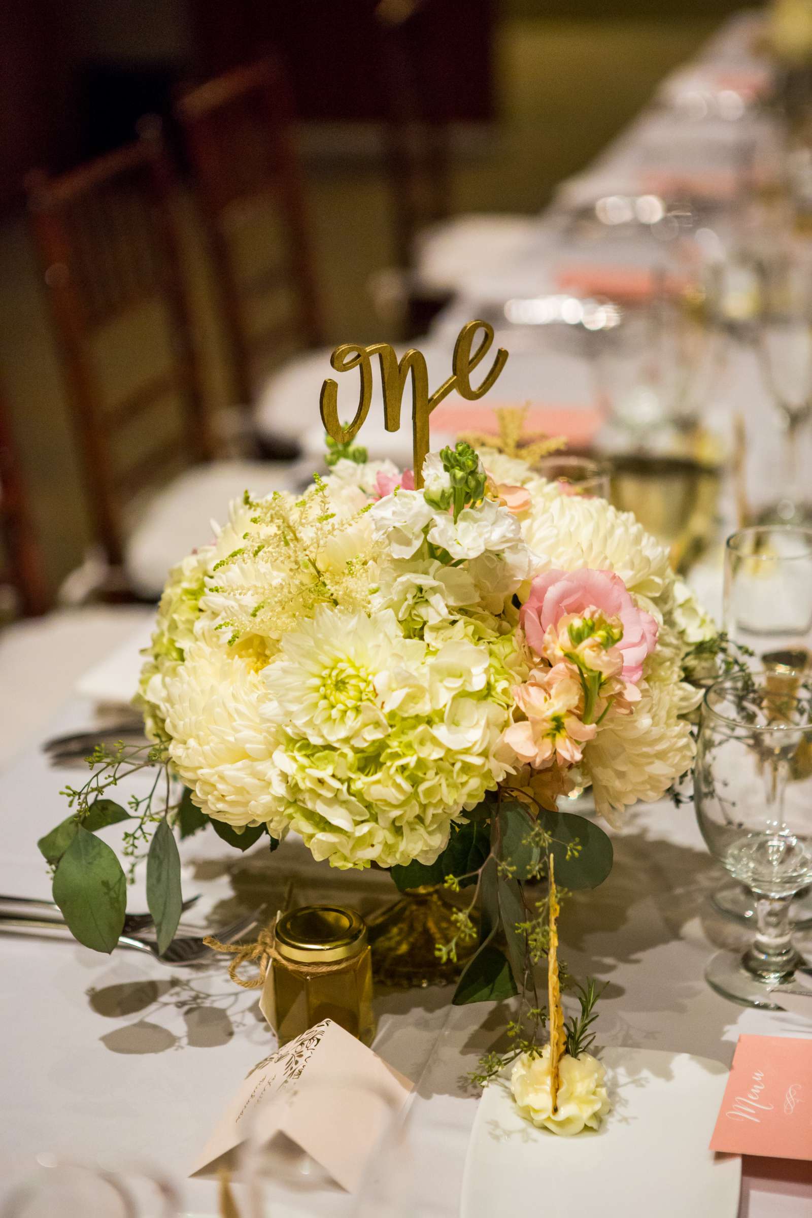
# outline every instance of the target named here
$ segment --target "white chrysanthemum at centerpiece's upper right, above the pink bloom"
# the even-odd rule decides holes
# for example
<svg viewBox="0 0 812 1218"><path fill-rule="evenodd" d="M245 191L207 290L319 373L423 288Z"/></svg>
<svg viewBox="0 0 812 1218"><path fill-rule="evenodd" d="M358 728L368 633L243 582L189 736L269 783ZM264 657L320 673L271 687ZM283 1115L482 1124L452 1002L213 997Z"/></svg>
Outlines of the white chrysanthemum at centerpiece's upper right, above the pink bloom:
<svg viewBox="0 0 812 1218"><path fill-rule="evenodd" d="M667 604L673 574L668 551L631 512L578 495L534 496L522 533L544 568L581 566L620 575L629 592Z"/></svg>

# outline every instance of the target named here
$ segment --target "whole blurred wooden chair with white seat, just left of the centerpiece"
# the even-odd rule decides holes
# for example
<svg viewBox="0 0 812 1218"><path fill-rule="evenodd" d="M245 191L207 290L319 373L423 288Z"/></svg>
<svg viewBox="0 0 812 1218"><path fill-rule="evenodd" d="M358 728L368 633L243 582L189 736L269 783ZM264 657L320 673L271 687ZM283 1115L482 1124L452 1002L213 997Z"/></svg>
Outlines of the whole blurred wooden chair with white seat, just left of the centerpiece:
<svg viewBox="0 0 812 1218"><path fill-rule="evenodd" d="M27 185L103 591L153 599L230 498L281 486L286 470L213 460L157 121L127 147Z"/></svg>

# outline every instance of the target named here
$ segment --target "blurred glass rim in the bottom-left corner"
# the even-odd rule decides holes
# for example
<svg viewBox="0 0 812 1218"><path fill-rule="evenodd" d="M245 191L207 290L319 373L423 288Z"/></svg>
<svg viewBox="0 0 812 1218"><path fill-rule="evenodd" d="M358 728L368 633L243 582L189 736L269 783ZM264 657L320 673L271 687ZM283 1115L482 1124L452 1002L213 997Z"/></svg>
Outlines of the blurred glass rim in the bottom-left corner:
<svg viewBox="0 0 812 1218"><path fill-rule="evenodd" d="M0 1218L174 1218L183 1209L174 1183L153 1168L46 1153L37 1162L2 1202Z"/></svg>

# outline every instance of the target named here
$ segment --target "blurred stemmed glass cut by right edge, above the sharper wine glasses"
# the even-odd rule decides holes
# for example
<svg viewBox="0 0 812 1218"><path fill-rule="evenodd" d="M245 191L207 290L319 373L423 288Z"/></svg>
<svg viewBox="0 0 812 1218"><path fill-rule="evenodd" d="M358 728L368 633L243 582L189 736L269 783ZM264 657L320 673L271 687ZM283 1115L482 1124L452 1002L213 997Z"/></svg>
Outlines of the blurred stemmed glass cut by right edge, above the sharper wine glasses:
<svg viewBox="0 0 812 1218"><path fill-rule="evenodd" d="M756 322L765 385L784 430L782 497L765 508L762 524L812 523L801 477L800 442L812 418L812 259L797 247L760 264L762 308Z"/></svg>

